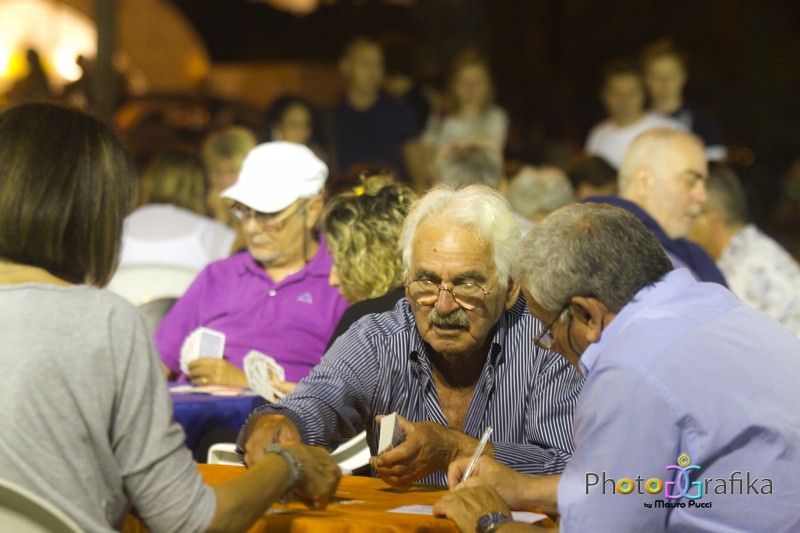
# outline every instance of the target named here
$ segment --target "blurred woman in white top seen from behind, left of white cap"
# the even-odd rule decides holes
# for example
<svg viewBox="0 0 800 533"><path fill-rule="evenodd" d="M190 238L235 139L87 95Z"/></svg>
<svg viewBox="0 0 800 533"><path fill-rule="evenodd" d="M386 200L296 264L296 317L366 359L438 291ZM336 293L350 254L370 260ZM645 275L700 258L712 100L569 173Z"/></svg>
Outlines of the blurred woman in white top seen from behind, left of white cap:
<svg viewBox="0 0 800 533"><path fill-rule="evenodd" d="M229 255L235 233L206 216L208 180L183 150L158 154L140 180L139 207L125 219L120 266L167 265L199 272Z"/></svg>

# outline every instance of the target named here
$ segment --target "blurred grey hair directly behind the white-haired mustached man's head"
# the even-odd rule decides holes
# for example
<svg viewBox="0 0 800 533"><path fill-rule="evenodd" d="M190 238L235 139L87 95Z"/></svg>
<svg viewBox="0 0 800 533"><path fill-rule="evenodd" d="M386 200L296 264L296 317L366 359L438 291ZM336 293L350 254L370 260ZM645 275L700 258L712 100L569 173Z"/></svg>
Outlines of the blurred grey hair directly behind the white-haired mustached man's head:
<svg viewBox="0 0 800 533"><path fill-rule="evenodd" d="M452 144L436 158L439 183L460 189L468 185L497 188L503 177L503 157L498 146L481 142Z"/></svg>

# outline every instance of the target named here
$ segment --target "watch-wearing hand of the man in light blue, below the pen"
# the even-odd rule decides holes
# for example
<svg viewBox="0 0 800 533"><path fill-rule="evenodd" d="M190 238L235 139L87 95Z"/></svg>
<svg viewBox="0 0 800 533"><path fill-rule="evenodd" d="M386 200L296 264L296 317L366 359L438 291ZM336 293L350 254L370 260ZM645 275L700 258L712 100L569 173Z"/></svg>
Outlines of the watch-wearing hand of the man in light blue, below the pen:
<svg viewBox="0 0 800 533"><path fill-rule="evenodd" d="M497 491L470 478L467 486L445 494L433 506L433 514L453 520L464 532L475 531L478 519L486 513L503 513L511 516L508 505Z"/></svg>

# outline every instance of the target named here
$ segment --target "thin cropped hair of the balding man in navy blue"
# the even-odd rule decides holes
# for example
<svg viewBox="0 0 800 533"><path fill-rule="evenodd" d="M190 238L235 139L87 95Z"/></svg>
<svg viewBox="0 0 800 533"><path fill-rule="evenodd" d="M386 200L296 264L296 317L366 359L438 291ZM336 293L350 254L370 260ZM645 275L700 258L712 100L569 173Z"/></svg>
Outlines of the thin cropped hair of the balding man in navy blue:
<svg viewBox="0 0 800 533"><path fill-rule="evenodd" d="M625 150L619 166L617 177L619 194L624 196L628 192L633 184L633 177L642 168L660 174L666 160L672 155L670 144L681 139L695 142L701 149L703 148L703 141L699 137L678 129L652 128L637 135Z"/></svg>

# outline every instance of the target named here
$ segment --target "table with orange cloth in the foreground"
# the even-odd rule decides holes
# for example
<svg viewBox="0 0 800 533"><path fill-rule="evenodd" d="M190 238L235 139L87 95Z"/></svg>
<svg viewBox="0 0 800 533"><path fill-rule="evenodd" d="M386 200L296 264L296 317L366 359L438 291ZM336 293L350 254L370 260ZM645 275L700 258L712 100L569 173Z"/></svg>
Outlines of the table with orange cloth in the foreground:
<svg viewBox="0 0 800 533"><path fill-rule="evenodd" d="M197 465L209 485L217 485L244 474L242 467ZM336 499L325 510L312 511L301 503L275 504L249 530L249 533L458 533L455 522L433 516L387 513L402 505L433 505L446 491L440 487L413 486L395 489L377 478L345 476ZM147 529L132 515L123 533L143 533Z"/></svg>

